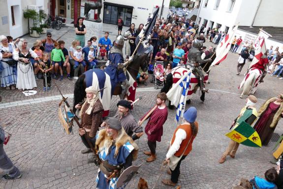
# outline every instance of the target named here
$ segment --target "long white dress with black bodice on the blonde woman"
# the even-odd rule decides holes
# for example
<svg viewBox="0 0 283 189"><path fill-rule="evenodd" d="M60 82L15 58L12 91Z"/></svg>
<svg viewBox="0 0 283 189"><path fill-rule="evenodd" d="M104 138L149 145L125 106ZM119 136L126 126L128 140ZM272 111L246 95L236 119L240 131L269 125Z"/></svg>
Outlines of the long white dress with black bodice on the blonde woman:
<svg viewBox="0 0 283 189"><path fill-rule="evenodd" d="M13 59L18 61L18 76L17 76L17 85L16 88L18 89L32 89L36 87L36 81L33 74L33 68L31 61L29 63L25 63L19 60L19 58L36 58L37 54L29 49L27 54L23 54L21 51L14 51L13 52Z"/></svg>

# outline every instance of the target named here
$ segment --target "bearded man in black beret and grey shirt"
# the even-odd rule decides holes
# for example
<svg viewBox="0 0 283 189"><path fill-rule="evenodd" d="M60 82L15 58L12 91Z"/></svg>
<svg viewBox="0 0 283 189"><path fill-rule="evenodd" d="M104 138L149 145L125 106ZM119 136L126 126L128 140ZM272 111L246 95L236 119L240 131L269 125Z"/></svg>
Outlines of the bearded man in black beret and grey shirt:
<svg viewBox="0 0 283 189"><path fill-rule="evenodd" d="M126 100L120 100L117 103L118 111L115 115L121 122L122 127L125 129L128 136L133 140L139 139L144 133L143 128L140 126L133 115L131 114L131 103ZM105 123L105 122L104 122ZM133 135L133 133L135 133Z"/></svg>

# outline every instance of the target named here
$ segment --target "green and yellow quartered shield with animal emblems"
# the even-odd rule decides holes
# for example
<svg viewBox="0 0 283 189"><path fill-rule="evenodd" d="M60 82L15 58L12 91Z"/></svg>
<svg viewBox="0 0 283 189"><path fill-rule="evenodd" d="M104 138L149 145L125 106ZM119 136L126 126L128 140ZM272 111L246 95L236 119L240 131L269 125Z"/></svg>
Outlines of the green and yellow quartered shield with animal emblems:
<svg viewBox="0 0 283 189"><path fill-rule="evenodd" d="M258 133L251 125L242 121L231 132L225 134L233 141L249 147L261 147L261 140Z"/></svg>

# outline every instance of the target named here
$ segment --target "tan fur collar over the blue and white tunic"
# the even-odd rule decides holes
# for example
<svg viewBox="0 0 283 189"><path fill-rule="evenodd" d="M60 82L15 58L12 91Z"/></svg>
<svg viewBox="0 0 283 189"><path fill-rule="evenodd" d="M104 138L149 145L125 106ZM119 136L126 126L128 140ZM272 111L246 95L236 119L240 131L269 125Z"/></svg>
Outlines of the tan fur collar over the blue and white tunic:
<svg viewBox="0 0 283 189"><path fill-rule="evenodd" d="M115 142L115 146L116 146L115 155L114 155L115 158L118 155L120 147L122 147L126 142L129 142L134 147L134 150L132 151L132 155L133 155L133 160L136 160L138 155L138 146L132 140L132 138L126 134L124 128L122 128L121 134L118 136ZM96 140L95 145L98 146L99 149L101 149L103 147L110 147L112 146L112 144L113 144L113 140L107 135L106 129L100 130L98 132L98 139Z"/></svg>

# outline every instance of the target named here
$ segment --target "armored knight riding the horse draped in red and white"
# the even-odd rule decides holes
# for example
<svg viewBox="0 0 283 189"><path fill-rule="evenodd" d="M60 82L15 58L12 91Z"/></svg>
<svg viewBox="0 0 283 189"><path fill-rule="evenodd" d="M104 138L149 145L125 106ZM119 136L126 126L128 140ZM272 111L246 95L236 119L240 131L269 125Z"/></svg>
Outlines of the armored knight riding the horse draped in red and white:
<svg viewBox="0 0 283 189"><path fill-rule="evenodd" d="M189 67L189 69L192 69L192 71L199 76L200 90L206 92L207 89L204 88L204 83L203 83L204 74L200 65L205 64L207 62L211 62L211 59L206 59L206 60L201 59L201 53L200 53L201 47L202 47L202 42L200 42L198 39L194 39L192 43L192 48L189 50L189 54L188 54L189 63L187 64L187 67Z"/></svg>

